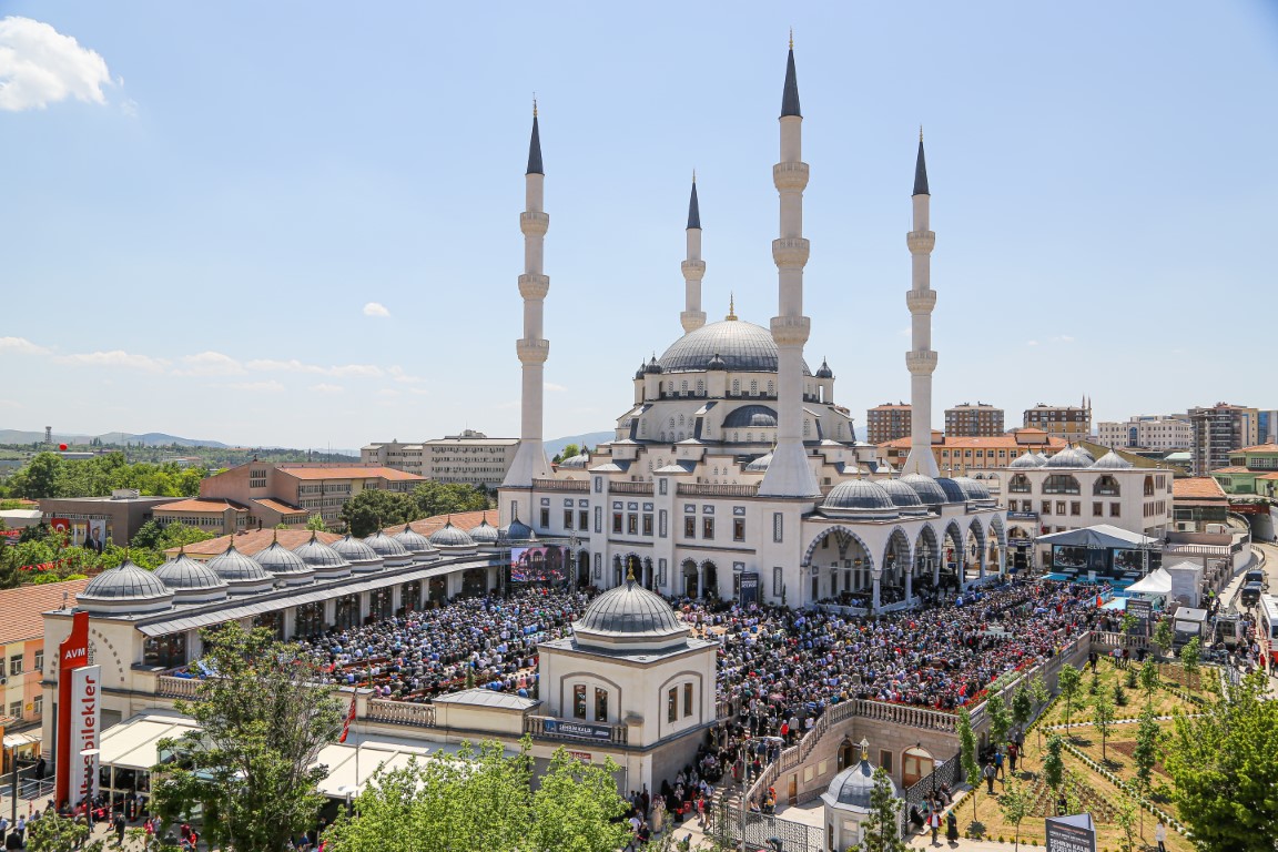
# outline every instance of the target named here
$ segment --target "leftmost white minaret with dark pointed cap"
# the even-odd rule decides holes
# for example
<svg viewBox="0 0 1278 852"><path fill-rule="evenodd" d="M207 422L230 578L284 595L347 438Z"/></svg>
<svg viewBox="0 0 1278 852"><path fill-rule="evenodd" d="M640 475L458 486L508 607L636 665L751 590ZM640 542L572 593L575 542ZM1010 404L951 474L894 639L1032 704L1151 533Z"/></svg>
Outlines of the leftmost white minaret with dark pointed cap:
<svg viewBox="0 0 1278 852"><path fill-rule="evenodd" d="M550 476L550 462L542 447L542 365L551 351L542 339L542 307L551 280L542 275L542 252L551 217L542 211L546 174L542 170L542 139L537 128L537 101L533 101L533 137L528 143L528 171L524 175L524 212L519 230L524 232L524 273L519 276L519 295L524 298L524 336L515 341L523 364L523 404L519 422L519 448L506 471L504 488L529 488L533 479ZM532 515L529 515L530 517Z"/></svg>

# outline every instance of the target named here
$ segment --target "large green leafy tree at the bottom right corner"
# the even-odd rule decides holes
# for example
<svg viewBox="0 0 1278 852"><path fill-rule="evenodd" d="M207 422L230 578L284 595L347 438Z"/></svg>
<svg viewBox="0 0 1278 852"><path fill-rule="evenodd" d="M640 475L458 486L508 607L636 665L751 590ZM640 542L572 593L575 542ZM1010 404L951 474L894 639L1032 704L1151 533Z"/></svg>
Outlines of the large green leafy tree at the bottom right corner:
<svg viewBox="0 0 1278 852"><path fill-rule="evenodd" d="M1163 764L1181 820L1204 849L1273 852L1278 838L1278 701L1250 674L1199 717L1176 715Z"/></svg>

